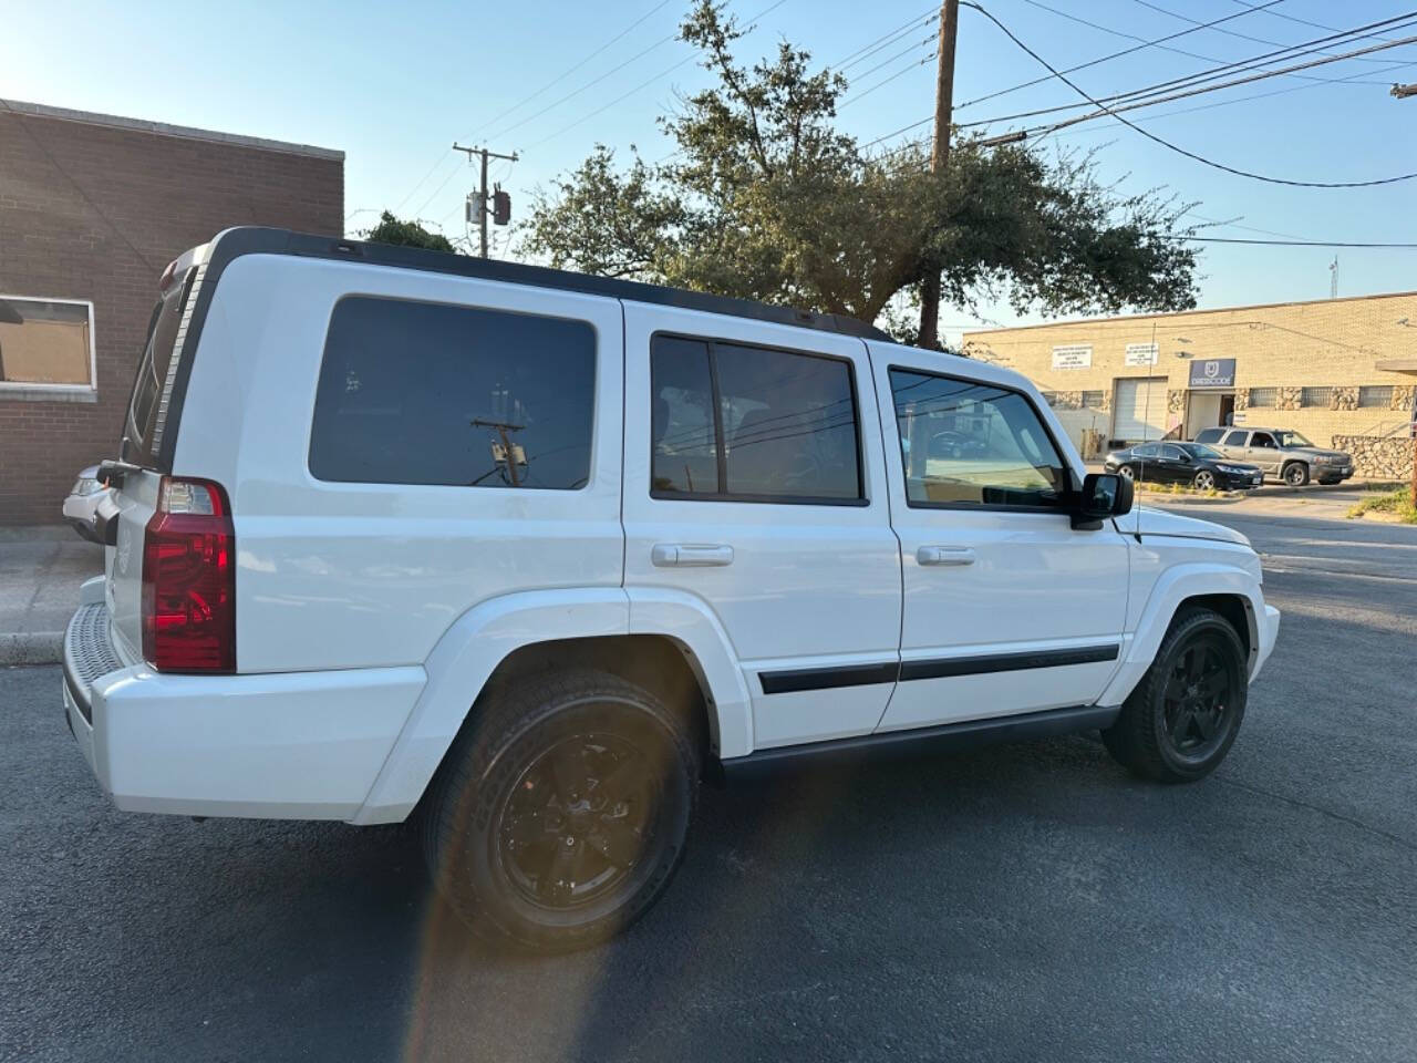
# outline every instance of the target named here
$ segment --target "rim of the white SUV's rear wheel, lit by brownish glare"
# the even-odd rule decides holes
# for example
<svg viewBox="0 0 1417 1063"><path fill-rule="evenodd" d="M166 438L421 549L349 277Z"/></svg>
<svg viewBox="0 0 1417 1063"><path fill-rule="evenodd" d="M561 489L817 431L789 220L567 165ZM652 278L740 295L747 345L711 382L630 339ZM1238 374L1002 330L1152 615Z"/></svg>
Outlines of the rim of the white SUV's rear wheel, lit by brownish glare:
<svg viewBox="0 0 1417 1063"><path fill-rule="evenodd" d="M571 736L537 754L497 822L497 853L517 893L570 910L623 886L653 840L653 778L643 751L615 734Z"/></svg>

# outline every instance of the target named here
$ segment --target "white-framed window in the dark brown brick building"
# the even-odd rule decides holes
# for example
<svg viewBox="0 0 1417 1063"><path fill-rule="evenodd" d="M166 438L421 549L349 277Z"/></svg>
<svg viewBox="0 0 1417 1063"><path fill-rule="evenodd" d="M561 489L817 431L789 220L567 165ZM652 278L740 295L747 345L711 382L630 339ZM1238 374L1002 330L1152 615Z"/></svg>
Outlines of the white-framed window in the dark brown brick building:
<svg viewBox="0 0 1417 1063"><path fill-rule="evenodd" d="M92 391L94 303L0 295L0 388Z"/></svg>

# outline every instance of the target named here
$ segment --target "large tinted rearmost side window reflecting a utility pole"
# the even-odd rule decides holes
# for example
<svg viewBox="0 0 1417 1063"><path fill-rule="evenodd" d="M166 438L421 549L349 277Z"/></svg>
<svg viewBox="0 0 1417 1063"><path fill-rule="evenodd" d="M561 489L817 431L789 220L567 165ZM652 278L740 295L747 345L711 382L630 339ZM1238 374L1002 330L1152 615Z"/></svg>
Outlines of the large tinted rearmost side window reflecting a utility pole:
<svg viewBox="0 0 1417 1063"><path fill-rule="evenodd" d="M589 478L594 411L587 322L353 296L324 342L310 472L574 490Z"/></svg>

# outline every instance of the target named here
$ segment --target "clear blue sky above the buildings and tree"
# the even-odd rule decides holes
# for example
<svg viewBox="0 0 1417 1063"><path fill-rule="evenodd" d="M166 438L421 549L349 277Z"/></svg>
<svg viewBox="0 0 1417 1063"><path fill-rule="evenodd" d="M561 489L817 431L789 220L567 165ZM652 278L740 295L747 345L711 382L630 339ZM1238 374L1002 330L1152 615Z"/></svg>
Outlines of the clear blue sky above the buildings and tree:
<svg viewBox="0 0 1417 1063"><path fill-rule="evenodd" d="M1029 0L986 0L986 6L1054 67L1064 68L1135 43L1118 34L1151 40L1187 28L1186 21L1158 9L1209 21L1260 1L1046 0L1112 33L1070 21ZM751 17L772 3L733 0L730 10ZM785 37L820 62L837 62L935 7L928 0L785 0L758 20L757 31L743 43L743 58L755 58ZM3 0L0 95L339 147L347 153L349 231L367 225L374 211L387 206L462 235L462 198L473 174L463 157L449 150L455 139L486 139L493 149L523 153L516 166L493 169L493 177L512 191L517 211L524 210L537 184L574 166L595 142L618 149L638 145L649 160L672 150L655 116L673 105L676 94L707 81L687 45L666 40L686 9L687 0L411 0L397 9L380 3L174 7L135 0ZM1408 9L1389 0L1284 0L1224 28L1294 44L1325 31L1278 16L1346 28L1403 10ZM642 17L621 40L517 108ZM846 132L870 140L931 113L934 67L921 61L932 50L925 38L934 28L921 27L847 71L856 79L853 94L862 95L847 96L842 109ZM1390 35L1413 34L1417 30ZM917 43L920 47L897 57ZM1093 95L1112 94L1204 69L1212 65L1207 60L1233 61L1271 48L1217 30L1169 45L1207 58L1153 47L1073 77ZM886 60L891 61L869 72ZM1399 62L1413 65L1387 69ZM866 92L897 71L905 72ZM956 103L1040 74L1044 71L978 11L962 10ZM1417 98L1397 101L1386 88L1391 81L1417 81L1417 45L1308 74L1357 81L1272 78L1134 112L1132 118L1190 150L1265 174L1365 180L1417 170ZM592 81L597 84L582 88ZM1243 99L1258 94L1275 95ZM567 95L571 98L563 101ZM1237 102L1158 118L1223 101ZM1049 81L961 108L955 118L990 119L1071 102L1077 102L1071 89ZM497 118L512 108L517 109ZM996 126L999 132L1007 128ZM1263 238L1267 234L1255 230L1267 230L1302 238L1417 242L1417 181L1359 190L1261 184L1173 154L1111 119L1058 133L1049 143L1095 147L1100 174L1124 190L1162 187L1196 201L1197 215L1250 227L1220 227L1210 230L1213 235ZM1342 295L1417 288L1417 251L1343 249L1338 255ZM1200 305L1323 298L1332 257L1323 248L1207 247ZM988 306L982 316L1019 320L1002 306ZM951 309L942 319L951 326L969 320ZM947 334L958 334L958 327Z"/></svg>

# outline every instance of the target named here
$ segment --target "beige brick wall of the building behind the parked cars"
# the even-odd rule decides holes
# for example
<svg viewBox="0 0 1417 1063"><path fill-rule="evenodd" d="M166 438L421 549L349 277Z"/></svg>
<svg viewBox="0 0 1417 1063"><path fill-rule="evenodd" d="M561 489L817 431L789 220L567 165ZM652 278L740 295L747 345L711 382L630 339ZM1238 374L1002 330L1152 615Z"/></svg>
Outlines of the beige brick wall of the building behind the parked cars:
<svg viewBox="0 0 1417 1063"><path fill-rule="evenodd" d="M1401 319L1408 325L1399 325ZM1417 357L1417 292L1097 317L971 332L964 339L971 357L1015 369L1043 391L1104 391L1111 397L1118 378L1151 376L1165 376L1169 391L1186 391L1192 363L1206 359L1236 360L1237 408L1247 405L1251 388L1332 387L1338 390L1335 403L1352 407L1360 386L1394 387L1393 408L1246 410L1247 424L1295 428L1316 444L1331 445L1333 435L1365 435L1410 415L1417 376L1382 371L1374 363ZM1153 342L1159 347L1156 366L1124 364L1127 344ZM1091 367L1054 370L1053 347L1073 344L1091 344ZM1111 431L1110 422L1105 429Z"/></svg>

